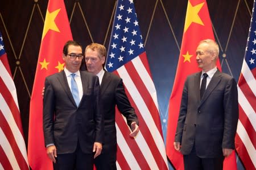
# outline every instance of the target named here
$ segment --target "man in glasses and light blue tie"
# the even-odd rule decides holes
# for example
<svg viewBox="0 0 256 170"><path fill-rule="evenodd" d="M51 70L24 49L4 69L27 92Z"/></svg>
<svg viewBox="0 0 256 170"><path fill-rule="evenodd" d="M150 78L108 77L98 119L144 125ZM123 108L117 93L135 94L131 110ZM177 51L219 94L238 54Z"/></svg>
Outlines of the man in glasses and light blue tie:
<svg viewBox="0 0 256 170"><path fill-rule="evenodd" d="M93 169L101 154L104 121L100 84L92 73L80 72L82 47L68 41L63 48L64 71L46 77L43 130L54 169Z"/></svg>

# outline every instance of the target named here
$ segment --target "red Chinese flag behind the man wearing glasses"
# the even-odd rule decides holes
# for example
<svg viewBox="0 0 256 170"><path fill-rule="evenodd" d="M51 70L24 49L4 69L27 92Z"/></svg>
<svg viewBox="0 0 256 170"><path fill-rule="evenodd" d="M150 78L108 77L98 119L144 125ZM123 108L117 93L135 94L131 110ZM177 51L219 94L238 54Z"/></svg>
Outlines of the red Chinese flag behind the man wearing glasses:
<svg viewBox="0 0 256 170"><path fill-rule="evenodd" d="M64 1L49 0L30 101L28 162L33 170L52 169L44 146L42 89L46 76L64 69L63 46L72 39Z"/></svg>

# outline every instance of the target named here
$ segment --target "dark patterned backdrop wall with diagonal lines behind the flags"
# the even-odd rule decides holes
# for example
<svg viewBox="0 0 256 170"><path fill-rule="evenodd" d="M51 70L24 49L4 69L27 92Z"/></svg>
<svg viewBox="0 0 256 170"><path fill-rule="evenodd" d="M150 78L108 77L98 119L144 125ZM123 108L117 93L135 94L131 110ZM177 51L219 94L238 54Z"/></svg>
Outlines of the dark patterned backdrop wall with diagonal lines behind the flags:
<svg viewBox="0 0 256 170"><path fill-rule="evenodd" d="M108 48L115 0L65 0L73 39ZM164 138L187 0L134 0L152 77L158 93ZM253 0L208 0L222 70L236 80L241 72ZM48 1L0 2L0 31L18 93L27 143L29 105ZM238 165L242 169L241 165Z"/></svg>

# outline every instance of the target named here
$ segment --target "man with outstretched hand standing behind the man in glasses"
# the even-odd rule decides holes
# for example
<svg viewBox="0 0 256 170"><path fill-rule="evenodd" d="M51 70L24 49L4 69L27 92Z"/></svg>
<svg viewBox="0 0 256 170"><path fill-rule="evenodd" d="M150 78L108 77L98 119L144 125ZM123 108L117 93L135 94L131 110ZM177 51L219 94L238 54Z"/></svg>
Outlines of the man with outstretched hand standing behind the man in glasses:
<svg viewBox="0 0 256 170"><path fill-rule="evenodd" d="M98 43L89 44L85 49L85 63L88 72L98 76L101 86L101 103L104 114L104 144L100 156L96 157L97 170L117 169L117 131L115 128L115 106L127 119L131 128L130 136L136 136L139 122L129 99L126 96L122 79L104 71L106 48Z"/></svg>

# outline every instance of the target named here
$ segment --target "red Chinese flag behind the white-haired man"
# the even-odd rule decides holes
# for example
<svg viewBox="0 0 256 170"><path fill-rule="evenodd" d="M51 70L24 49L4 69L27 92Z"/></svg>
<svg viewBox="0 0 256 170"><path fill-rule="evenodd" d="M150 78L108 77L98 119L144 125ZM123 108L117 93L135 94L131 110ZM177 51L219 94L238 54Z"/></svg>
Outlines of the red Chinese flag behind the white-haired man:
<svg viewBox="0 0 256 170"><path fill-rule="evenodd" d="M179 62L169 103L169 118L166 138L167 156L175 169L184 169L183 155L174 149L174 138L177 119L179 117L183 85L189 74L201 71L197 67L196 63L196 48L199 42L204 39L214 40L207 2L205 0L189 0ZM220 62L217 63L217 67L221 70ZM231 157L233 157L233 159L229 156L229 160L225 160L225 163L229 163L229 169L237 169L234 152ZM224 167L226 167L225 163Z"/></svg>

